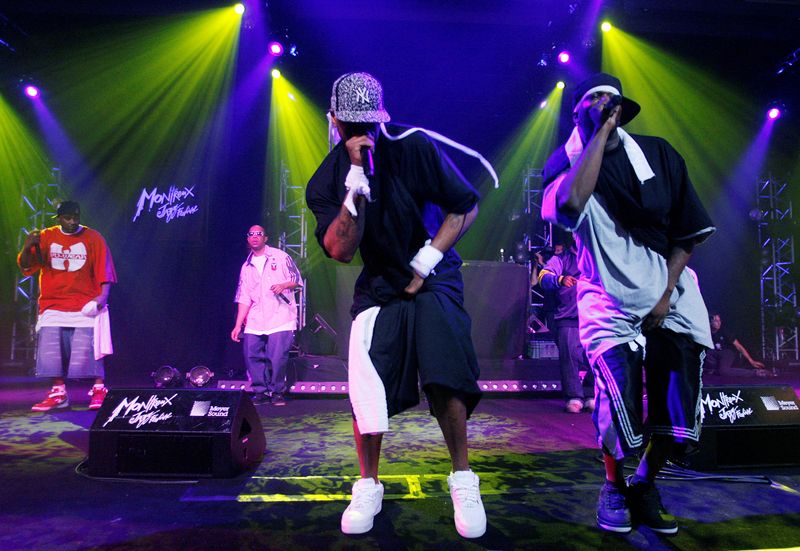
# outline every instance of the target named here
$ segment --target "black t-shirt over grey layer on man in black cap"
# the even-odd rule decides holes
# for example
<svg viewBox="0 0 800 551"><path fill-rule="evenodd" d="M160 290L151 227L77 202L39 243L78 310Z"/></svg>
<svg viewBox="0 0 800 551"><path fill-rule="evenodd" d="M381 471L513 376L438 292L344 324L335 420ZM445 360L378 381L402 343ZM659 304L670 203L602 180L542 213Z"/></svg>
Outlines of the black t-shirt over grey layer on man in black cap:
<svg viewBox="0 0 800 551"><path fill-rule="evenodd" d="M639 181L621 141L607 151L594 193L604 199L609 214L637 241L663 257L669 256L676 242L710 235L713 223L697 197L683 157L662 138L631 137L642 149L655 177L644 184ZM566 152L560 147L547 161L544 185L569 166Z"/></svg>

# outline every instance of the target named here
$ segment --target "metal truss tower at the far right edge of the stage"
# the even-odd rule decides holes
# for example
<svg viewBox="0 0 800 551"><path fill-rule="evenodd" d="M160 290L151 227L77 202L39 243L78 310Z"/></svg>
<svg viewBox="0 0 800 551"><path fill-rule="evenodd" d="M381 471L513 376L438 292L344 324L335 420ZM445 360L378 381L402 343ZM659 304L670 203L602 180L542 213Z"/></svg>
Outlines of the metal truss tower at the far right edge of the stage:
<svg viewBox="0 0 800 551"><path fill-rule="evenodd" d="M798 359L797 286L793 277L796 230L788 184L758 183L761 259L761 352L772 360Z"/></svg>

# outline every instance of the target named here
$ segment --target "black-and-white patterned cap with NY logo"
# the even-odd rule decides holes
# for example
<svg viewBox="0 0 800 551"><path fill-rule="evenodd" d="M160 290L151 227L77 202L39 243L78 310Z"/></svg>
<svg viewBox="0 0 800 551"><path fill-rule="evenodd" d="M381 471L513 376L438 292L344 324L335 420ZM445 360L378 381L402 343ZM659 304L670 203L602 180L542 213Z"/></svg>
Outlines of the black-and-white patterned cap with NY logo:
<svg viewBox="0 0 800 551"><path fill-rule="evenodd" d="M383 88L369 73L347 73L336 79L331 111L343 122L389 122L383 108Z"/></svg>

